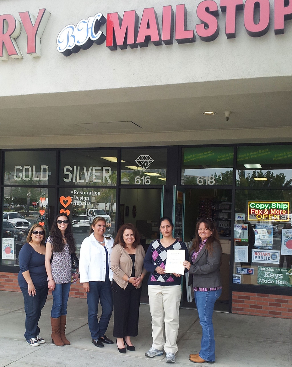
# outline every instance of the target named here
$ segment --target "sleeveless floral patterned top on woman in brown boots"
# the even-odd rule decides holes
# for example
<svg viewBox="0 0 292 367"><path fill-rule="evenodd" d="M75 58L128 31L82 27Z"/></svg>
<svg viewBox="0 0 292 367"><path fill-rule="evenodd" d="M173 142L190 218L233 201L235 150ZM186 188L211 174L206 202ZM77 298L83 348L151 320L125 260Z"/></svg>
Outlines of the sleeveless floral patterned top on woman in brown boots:
<svg viewBox="0 0 292 367"><path fill-rule="evenodd" d="M52 243L50 236L47 243ZM68 243L64 244L62 252L53 251L53 261L51 262L52 276L56 284L71 283L71 254L69 252Z"/></svg>

